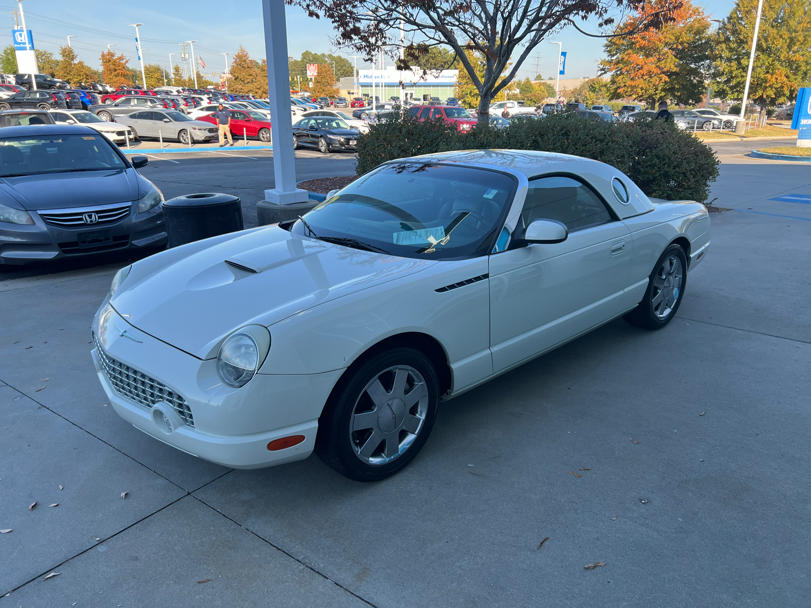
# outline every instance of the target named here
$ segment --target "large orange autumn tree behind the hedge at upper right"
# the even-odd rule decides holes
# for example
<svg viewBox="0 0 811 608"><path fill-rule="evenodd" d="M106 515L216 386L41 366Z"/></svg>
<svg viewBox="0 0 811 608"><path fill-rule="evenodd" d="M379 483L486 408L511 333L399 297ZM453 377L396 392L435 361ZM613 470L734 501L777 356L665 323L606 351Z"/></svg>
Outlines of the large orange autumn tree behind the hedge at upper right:
<svg viewBox="0 0 811 608"><path fill-rule="evenodd" d="M633 32L667 4L667 0L647 2L616 33ZM674 20L659 29L608 39L607 58L600 62L600 69L611 75L615 99L646 100L649 107L659 101L696 104L702 100L711 66L710 21L689 0L672 15Z"/></svg>

